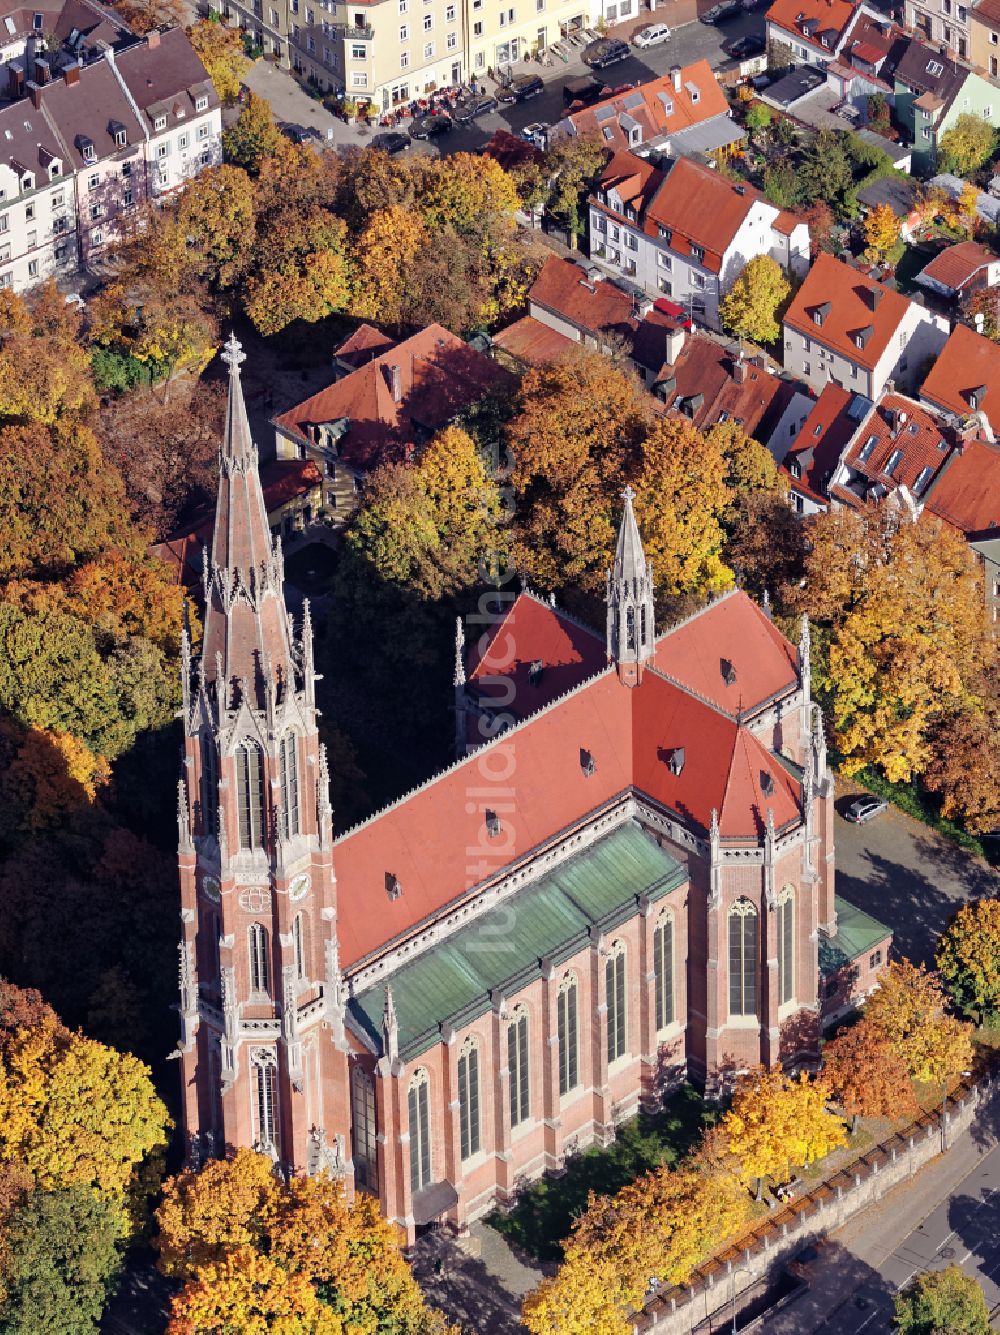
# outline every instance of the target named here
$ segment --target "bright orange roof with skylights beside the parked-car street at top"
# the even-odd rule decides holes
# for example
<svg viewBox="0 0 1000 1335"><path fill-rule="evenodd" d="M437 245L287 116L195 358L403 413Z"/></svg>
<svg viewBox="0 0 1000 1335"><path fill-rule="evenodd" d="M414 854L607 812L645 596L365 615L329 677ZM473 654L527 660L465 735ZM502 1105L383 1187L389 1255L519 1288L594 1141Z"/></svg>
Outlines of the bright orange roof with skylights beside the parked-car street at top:
<svg viewBox="0 0 1000 1335"><path fill-rule="evenodd" d="M728 113L726 96L708 60L685 65L680 84L680 88L674 88L670 75L650 79L640 88L629 88L615 97L574 111L566 119L578 135L591 135L607 148L629 148L629 135L621 127L622 115L636 121L642 134L641 142L648 143ZM688 84L697 89L697 101ZM614 108L614 115L607 115L609 107Z"/></svg>

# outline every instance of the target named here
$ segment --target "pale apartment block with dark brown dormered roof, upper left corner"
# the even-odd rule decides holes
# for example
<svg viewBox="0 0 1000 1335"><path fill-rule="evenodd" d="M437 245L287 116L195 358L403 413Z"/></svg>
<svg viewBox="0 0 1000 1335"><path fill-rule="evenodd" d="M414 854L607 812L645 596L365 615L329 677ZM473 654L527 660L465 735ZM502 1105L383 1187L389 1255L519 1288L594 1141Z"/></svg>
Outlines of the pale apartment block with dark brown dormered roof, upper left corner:
<svg viewBox="0 0 1000 1335"><path fill-rule="evenodd" d="M32 72L0 107L0 287L17 291L92 264L140 204L222 160L219 97L180 28Z"/></svg>

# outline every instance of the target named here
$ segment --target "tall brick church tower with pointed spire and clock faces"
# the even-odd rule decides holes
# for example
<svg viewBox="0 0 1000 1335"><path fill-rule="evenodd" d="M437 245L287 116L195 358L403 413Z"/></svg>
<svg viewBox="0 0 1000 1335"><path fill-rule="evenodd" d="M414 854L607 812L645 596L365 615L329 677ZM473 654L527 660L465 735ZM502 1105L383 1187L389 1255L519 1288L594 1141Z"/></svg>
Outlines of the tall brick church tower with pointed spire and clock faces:
<svg viewBox="0 0 1000 1335"><path fill-rule="evenodd" d="M294 625L239 367L230 368L204 635L184 631L178 1044L190 1163L254 1147L346 1172L350 1124L326 752L308 603Z"/></svg>

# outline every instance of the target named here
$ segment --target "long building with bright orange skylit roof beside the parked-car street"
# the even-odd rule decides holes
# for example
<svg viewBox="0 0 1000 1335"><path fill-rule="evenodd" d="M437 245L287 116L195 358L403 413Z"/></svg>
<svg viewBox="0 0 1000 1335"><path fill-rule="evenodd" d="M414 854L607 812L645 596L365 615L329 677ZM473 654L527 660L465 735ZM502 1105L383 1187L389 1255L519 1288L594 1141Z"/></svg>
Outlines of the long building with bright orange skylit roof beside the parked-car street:
<svg viewBox="0 0 1000 1335"><path fill-rule="evenodd" d="M706 154L745 139L708 60L676 67L617 97L565 116L553 135L590 135L611 151L657 150L674 158Z"/></svg>

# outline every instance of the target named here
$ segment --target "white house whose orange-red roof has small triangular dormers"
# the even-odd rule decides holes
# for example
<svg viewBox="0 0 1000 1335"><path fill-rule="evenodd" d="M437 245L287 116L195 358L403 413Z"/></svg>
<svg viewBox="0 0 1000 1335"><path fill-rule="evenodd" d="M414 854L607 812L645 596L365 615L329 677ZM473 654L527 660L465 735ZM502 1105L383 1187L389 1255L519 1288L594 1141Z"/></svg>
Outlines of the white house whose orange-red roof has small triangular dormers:
<svg viewBox="0 0 1000 1335"><path fill-rule="evenodd" d="M785 370L877 399L891 379L912 387L947 338L944 316L820 254L785 314Z"/></svg>

